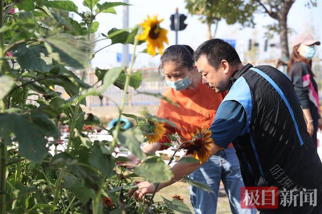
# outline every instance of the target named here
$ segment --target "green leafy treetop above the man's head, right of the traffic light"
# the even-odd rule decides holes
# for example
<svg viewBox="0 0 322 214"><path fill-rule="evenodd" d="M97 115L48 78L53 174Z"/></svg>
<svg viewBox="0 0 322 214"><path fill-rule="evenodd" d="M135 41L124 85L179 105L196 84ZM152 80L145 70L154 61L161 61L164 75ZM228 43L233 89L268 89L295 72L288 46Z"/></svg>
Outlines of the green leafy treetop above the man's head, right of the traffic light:
<svg viewBox="0 0 322 214"><path fill-rule="evenodd" d="M215 37L218 22L225 20L228 25L235 23L243 27L253 27L253 13L257 6L245 4L242 0L185 0L186 9L192 15L200 15L200 21L207 24L207 38ZM211 26L215 24L215 31L211 33Z"/></svg>

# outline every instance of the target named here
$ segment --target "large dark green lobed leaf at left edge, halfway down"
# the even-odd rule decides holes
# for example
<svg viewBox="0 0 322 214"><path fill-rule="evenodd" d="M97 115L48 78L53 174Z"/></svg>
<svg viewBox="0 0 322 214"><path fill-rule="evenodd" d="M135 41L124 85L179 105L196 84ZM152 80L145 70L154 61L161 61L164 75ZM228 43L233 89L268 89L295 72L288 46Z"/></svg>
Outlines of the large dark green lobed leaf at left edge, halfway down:
<svg viewBox="0 0 322 214"><path fill-rule="evenodd" d="M11 134L15 134L11 140ZM19 142L19 154L40 162L47 154L45 137L58 138L59 129L44 113L28 115L0 114L0 135L7 140Z"/></svg>

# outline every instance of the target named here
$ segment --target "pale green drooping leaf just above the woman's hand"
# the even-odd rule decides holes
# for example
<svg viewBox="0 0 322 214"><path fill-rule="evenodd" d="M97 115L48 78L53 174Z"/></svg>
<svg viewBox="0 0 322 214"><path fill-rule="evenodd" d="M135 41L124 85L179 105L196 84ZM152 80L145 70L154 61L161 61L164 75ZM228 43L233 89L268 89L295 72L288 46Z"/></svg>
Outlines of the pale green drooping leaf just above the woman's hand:
<svg viewBox="0 0 322 214"><path fill-rule="evenodd" d="M116 137L115 135L113 136ZM126 147L139 159L143 160L145 158L145 154L142 152L140 147L141 143L143 143L143 138L142 132L139 128L128 129L120 132L118 135L118 140L122 146Z"/></svg>

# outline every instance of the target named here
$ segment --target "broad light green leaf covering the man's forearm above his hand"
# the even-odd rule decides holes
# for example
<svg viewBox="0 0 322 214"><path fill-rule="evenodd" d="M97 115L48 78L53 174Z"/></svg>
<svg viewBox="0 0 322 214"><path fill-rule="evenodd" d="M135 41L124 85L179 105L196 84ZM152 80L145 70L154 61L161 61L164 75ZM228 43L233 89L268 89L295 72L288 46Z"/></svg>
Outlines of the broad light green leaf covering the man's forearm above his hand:
<svg viewBox="0 0 322 214"><path fill-rule="evenodd" d="M156 156L147 157L139 166L135 167L135 173L153 183L168 182L173 177L169 166Z"/></svg>

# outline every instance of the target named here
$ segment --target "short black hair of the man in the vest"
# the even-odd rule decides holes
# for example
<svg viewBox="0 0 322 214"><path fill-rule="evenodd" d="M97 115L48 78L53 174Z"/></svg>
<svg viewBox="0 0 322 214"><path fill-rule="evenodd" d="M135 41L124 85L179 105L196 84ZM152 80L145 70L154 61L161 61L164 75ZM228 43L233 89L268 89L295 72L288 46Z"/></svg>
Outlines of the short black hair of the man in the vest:
<svg viewBox="0 0 322 214"><path fill-rule="evenodd" d="M236 50L220 39L212 39L202 43L195 51L193 58L198 61L201 56L205 56L208 63L215 69L218 69L222 60L226 60L232 66L241 63Z"/></svg>

